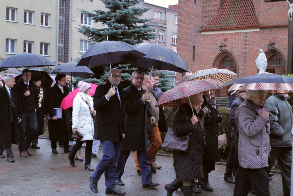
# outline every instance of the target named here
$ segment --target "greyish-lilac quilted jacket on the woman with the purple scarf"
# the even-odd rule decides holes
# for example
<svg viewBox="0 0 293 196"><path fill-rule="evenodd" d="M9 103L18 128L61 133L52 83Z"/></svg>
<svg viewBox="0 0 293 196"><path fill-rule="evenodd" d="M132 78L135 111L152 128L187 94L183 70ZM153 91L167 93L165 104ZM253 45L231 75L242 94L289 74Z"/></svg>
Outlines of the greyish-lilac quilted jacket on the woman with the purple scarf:
<svg viewBox="0 0 293 196"><path fill-rule="evenodd" d="M268 119L259 115L250 100L244 102L235 112L238 124L238 160L243 168L268 167L270 138L266 130Z"/></svg>

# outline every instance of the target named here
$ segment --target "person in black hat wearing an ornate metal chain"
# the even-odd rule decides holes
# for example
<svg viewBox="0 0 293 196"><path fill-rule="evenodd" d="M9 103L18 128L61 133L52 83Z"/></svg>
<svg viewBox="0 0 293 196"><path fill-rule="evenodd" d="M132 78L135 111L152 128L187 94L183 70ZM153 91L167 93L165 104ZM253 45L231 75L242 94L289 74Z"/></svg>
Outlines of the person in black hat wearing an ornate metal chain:
<svg viewBox="0 0 293 196"><path fill-rule="evenodd" d="M35 76L32 78L33 83L37 86L38 93L38 109L36 111L38 118L38 129L36 133L33 133L33 140L31 148L40 149L38 146L39 135L44 134L44 115L45 115L45 103L46 103L46 93L47 89L41 86L42 78L39 76Z"/></svg>

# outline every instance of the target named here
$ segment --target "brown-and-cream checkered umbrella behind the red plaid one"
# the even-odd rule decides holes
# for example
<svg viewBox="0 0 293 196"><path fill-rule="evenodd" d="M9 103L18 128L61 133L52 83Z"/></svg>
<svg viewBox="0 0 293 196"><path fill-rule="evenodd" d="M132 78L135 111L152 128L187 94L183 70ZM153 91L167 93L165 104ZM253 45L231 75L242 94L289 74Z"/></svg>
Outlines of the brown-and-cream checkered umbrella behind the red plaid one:
<svg viewBox="0 0 293 196"><path fill-rule="evenodd" d="M233 71L230 71L229 69L212 68L196 71L194 74L187 76L184 80L181 81L181 83L186 81L214 79L224 83L222 86L219 86L219 88L222 88L224 86L234 84L237 80L237 76L237 74L235 74Z"/></svg>

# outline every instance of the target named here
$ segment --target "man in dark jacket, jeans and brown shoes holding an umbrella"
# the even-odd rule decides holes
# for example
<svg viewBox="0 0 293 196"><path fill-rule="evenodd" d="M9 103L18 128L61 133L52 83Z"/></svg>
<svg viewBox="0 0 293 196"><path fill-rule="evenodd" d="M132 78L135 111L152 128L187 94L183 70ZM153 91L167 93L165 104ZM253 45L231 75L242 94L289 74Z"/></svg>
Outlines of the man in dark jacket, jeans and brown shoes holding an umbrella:
<svg viewBox="0 0 293 196"><path fill-rule="evenodd" d="M21 77L22 78L19 79L15 85L21 98L22 108L21 126L18 130L18 149L20 156L26 157L28 155L33 155L30 151L30 144L32 143L33 135L38 129L36 111L38 109L39 98L35 83L30 81L32 77L30 70L24 69Z"/></svg>

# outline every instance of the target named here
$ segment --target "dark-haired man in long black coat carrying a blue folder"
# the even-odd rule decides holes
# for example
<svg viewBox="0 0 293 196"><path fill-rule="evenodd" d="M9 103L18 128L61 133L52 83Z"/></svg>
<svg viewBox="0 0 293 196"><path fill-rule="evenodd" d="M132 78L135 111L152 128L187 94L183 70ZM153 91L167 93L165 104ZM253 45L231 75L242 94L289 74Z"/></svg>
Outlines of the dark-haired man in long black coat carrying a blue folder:
<svg viewBox="0 0 293 196"><path fill-rule="evenodd" d="M65 87L65 74L58 74L55 77L56 83L54 86L48 88L47 91L47 105L46 108L48 110L48 115L50 116L50 120L48 120L49 125L49 139L51 141L51 148L53 154L58 154L57 141L64 142L64 153L70 153L71 149L69 148L69 109L57 109L62 111L62 118L58 118L56 115L54 108L60 108L61 102L64 97L69 94L69 89ZM71 135L70 135L71 137Z"/></svg>

